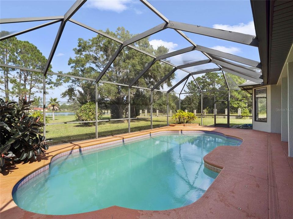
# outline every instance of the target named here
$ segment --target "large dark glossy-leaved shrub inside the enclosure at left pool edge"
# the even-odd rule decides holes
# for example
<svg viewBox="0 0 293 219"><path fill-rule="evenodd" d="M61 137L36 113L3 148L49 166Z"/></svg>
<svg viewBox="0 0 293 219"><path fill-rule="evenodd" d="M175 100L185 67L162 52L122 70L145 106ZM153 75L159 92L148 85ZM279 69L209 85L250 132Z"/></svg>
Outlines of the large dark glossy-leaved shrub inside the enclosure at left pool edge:
<svg viewBox="0 0 293 219"><path fill-rule="evenodd" d="M36 160L37 155L44 154L43 149L48 149L45 136L39 134L44 123L27 113L32 102L5 102L0 98L1 172L5 163Z"/></svg>

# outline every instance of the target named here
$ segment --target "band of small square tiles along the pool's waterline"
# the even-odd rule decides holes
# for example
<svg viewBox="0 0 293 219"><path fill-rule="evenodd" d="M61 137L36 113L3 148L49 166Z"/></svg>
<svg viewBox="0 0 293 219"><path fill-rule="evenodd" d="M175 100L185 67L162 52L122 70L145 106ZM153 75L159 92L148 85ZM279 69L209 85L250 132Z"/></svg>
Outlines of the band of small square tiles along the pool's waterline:
<svg viewBox="0 0 293 219"><path fill-rule="evenodd" d="M24 177L23 179L21 179L13 187L12 195L16 192L17 189L19 189L21 186L25 185L28 181L30 181L34 177L40 175L42 172L49 171L50 165L53 162L55 162L57 159L61 158L61 157L64 157L64 156L69 155L69 154L75 154L75 153L78 153L78 152L80 153L81 151L86 151L86 152L94 151L97 148L107 149L107 148L110 148L111 146L114 146L115 144L138 141L138 140L142 140L144 138L154 137L154 136L157 136L157 135L167 134L167 133L172 133L172 134L196 134L196 133L197 134L199 134L199 133L201 133L201 134L215 134L215 135L219 135L219 136L222 136L222 137L226 137L228 139L236 140L236 141L239 142L239 145L243 142L243 140L240 139L240 138L227 136L225 134L215 132L215 131L205 131L205 130L181 130L181 131L177 131L177 130L168 130L168 131L158 131L158 132L155 132L155 133L139 135L139 136L135 136L135 137L129 137L129 138L125 138L125 139L121 139L121 140L117 140L117 141L109 141L107 143L96 144L96 145L85 147L85 148L78 148L78 149L66 151L66 152L63 152L63 153L60 153L60 154L54 156L53 158L51 158L51 161L50 161L50 163L48 165L36 170L32 174L30 174L30 175ZM208 169L211 169L212 171L218 172L218 173L222 170L222 169L213 167L213 166L207 164L206 162L204 162L204 166L207 167Z"/></svg>

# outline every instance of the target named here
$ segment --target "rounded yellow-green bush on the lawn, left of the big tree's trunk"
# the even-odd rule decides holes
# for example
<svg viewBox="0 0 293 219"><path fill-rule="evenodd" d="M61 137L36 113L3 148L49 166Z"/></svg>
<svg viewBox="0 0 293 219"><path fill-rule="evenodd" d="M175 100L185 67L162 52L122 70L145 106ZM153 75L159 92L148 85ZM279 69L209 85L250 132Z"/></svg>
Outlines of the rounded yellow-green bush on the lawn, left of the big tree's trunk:
<svg viewBox="0 0 293 219"><path fill-rule="evenodd" d="M98 120L102 119L101 110L98 109ZM96 120L96 104L94 102L88 102L78 108L75 113L75 118L78 121L93 121ZM87 126L95 125L95 122L84 123Z"/></svg>

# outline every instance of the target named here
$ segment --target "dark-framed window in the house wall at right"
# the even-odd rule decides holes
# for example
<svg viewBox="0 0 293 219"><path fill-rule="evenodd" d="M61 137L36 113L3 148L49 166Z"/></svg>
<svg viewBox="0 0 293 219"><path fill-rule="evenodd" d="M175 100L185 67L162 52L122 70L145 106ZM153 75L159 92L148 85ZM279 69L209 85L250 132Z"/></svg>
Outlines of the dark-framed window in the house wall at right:
<svg viewBox="0 0 293 219"><path fill-rule="evenodd" d="M266 88L255 89L255 121L266 122Z"/></svg>

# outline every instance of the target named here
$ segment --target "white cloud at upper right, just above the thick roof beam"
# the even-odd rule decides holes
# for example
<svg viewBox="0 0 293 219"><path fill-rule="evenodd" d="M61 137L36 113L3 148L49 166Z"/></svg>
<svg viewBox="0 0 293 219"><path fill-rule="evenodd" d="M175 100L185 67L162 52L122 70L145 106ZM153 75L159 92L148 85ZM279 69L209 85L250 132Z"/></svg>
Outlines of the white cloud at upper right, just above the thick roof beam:
<svg viewBox="0 0 293 219"><path fill-rule="evenodd" d="M238 33L246 33L250 35L255 35L255 28L253 21L245 23L239 23L237 25L229 25L229 24L214 24L213 28L220 30L229 30Z"/></svg>

